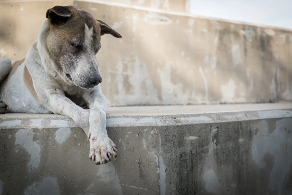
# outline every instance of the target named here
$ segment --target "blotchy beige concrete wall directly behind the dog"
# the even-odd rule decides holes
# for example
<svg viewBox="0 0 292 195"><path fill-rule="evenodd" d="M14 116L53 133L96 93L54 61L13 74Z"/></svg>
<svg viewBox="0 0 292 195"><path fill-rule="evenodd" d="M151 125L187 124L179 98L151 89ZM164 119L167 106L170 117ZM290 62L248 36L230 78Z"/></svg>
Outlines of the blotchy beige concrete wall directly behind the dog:
<svg viewBox="0 0 292 195"><path fill-rule="evenodd" d="M25 57L57 4L72 1L1 4L1 56ZM74 6L123 36L103 36L96 56L110 106L292 100L291 30L116 4Z"/></svg>

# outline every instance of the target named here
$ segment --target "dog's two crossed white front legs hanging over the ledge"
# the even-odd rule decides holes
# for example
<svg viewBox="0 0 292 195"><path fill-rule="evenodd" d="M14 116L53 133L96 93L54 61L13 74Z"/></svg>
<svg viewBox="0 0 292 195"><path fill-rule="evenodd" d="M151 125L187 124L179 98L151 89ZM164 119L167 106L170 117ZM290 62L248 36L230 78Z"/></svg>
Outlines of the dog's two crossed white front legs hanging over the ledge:
<svg viewBox="0 0 292 195"><path fill-rule="evenodd" d="M95 164L100 165L115 160L117 153L114 150L116 145L109 139L106 131L106 114L107 104L99 100L91 102L90 113L77 106L68 99L61 90L47 92L48 109L55 114L62 114L73 119L80 126L90 139L90 157ZM103 96L103 95L102 95ZM104 97L104 96L103 96ZM106 102L106 100L105 100ZM106 105L102 107L101 105Z"/></svg>

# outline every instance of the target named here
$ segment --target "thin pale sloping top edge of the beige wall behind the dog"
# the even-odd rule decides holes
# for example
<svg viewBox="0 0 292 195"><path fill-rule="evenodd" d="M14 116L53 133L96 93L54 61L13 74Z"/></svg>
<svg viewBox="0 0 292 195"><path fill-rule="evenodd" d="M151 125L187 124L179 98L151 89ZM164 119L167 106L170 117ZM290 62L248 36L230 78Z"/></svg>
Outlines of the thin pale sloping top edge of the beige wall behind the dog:
<svg viewBox="0 0 292 195"><path fill-rule="evenodd" d="M261 28L268 28L268 29L283 30L283 31L292 32L292 29L290 29L290 28L281 28L281 27L277 27L277 26L260 25L260 24L241 22L241 21L235 21L235 20L212 18L212 17L207 17L207 16L198 16L198 15L194 15L194 14L187 13L187 12L166 11L166 10L161 10L161 9L156 9L156 8L148 8L148 7L142 7L142 6L136 6L136 5L127 5L127 4L123 4L123 3L117 3L117 2L105 2L103 0L74 0L74 6L75 6L75 3L78 1L103 4L103 5L114 6L114 7L131 8L131 9L136 9L136 10L156 12L156 13L162 13L162 14L170 14L170 15L176 15L176 16L187 16L187 17L200 18L200 19L205 19L205 20L216 20L216 21L232 23L232 24L241 24L241 25L248 25L248 26L254 26L254 27L261 27Z"/></svg>

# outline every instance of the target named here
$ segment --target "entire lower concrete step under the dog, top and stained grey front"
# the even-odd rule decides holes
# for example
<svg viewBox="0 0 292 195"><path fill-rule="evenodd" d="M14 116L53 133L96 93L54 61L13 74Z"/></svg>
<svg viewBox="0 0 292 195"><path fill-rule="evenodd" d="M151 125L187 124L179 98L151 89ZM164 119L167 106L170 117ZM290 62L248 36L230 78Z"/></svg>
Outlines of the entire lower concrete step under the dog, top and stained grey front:
<svg viewBox="0 0 292 195"><path fill-rule="evenodd" d="M291 103L109 108L102 166L68 117L0 117L0 195L292 194Z"/></svg>

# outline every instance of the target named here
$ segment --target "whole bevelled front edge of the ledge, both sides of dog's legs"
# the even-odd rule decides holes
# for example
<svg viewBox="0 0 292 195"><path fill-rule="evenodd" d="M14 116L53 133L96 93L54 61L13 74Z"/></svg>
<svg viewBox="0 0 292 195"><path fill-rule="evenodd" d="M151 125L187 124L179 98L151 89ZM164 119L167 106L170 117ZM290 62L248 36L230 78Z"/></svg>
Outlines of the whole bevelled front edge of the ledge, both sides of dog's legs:
<svg viewBox="0 0 292 195"><path fill-rule="evenodd" d="M34 117L36 116L36 117ZM11 117L0 118L0 129L25 129L25 128L63 128L77 127L73 120L66 116L54 115L47 117ZM261 110L241 112L213 112L200 114L173 114L158 116L107 116L107 127L135 127L135 126L177 126L191 124L209 124L248 120L292 118L292 109L283 110Z"/></svg>

